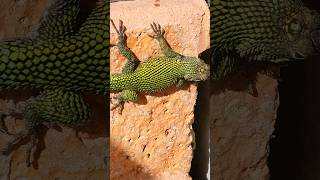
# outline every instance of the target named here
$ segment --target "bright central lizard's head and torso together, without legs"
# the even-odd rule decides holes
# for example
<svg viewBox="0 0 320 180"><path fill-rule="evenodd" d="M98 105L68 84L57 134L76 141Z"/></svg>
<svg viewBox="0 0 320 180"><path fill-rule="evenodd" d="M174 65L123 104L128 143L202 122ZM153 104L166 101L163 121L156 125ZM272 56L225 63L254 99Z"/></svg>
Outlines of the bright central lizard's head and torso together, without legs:
<svg viewBox="0 0 320 180"><path fill-rule="evenodd" d="M112 74L110 89L154 93L179 80L201 81L209 76L209 67L193 57L150 58L132 73Z"/></svg>

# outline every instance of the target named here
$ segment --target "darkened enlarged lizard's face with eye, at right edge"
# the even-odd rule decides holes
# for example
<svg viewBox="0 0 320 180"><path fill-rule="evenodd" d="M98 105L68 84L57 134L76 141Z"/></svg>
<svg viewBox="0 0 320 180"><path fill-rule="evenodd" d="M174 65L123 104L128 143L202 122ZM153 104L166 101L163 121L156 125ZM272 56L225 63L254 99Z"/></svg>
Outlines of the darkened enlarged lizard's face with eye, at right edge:
<svg viewBox="0 0 320 180"><path fill-rule="evenodd" d="M287 52L290 58L305 59L320 49L320 15L302 4L293 12L284 27Z"/></svg>

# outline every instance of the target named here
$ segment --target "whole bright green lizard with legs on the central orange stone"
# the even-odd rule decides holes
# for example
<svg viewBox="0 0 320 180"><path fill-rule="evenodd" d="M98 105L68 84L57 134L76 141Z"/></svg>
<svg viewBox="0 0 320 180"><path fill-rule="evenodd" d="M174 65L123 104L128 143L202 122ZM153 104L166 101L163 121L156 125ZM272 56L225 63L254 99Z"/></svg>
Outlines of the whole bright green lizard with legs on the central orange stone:
<svg viewBox="0 0 320 180"><path fill-rule="evenodd" d="M120 52L128 58L122 73L111 75L110 90L122 91L116 106L125 101L136 101L136 92L154 93L172 85L181 86L184 81L204 81L210 74L209 66L203 60L174 52L163 37L164 31L160 25L153 24L151 27L165 56L148 59L139 65L134 54L124 45L125 27L121 21L119 30L116 29Z"/></svg>

